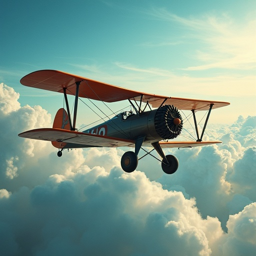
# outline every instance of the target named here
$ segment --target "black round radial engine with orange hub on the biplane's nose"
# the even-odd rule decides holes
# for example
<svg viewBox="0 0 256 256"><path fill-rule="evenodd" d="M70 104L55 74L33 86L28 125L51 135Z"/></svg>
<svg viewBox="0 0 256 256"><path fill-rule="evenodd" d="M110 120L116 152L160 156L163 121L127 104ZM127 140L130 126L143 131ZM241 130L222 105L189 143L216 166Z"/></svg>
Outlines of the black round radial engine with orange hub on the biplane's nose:
<svg viewBox="0 0 256 256"><path fill-rule="evenodd" d="M177 137L183 127L183 120L178 109L173 105L159 107L154 116L154 127L162 139Z"/></svg>

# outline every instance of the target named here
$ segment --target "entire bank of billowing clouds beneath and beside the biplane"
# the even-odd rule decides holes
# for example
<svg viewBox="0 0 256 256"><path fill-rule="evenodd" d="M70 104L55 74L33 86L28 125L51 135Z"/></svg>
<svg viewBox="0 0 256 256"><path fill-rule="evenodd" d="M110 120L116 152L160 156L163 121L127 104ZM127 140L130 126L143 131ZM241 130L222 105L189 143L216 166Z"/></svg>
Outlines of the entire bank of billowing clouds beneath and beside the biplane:
<svg viewBox="0 0 256 256"><path fill-rule="evenodd" d="M0 89L1 255L255 254L254 117L209 130L221 145L173 151L173 175L149 157L124 173L122 149L59 158L50 143L19 138L51 116Z"/></svg>

